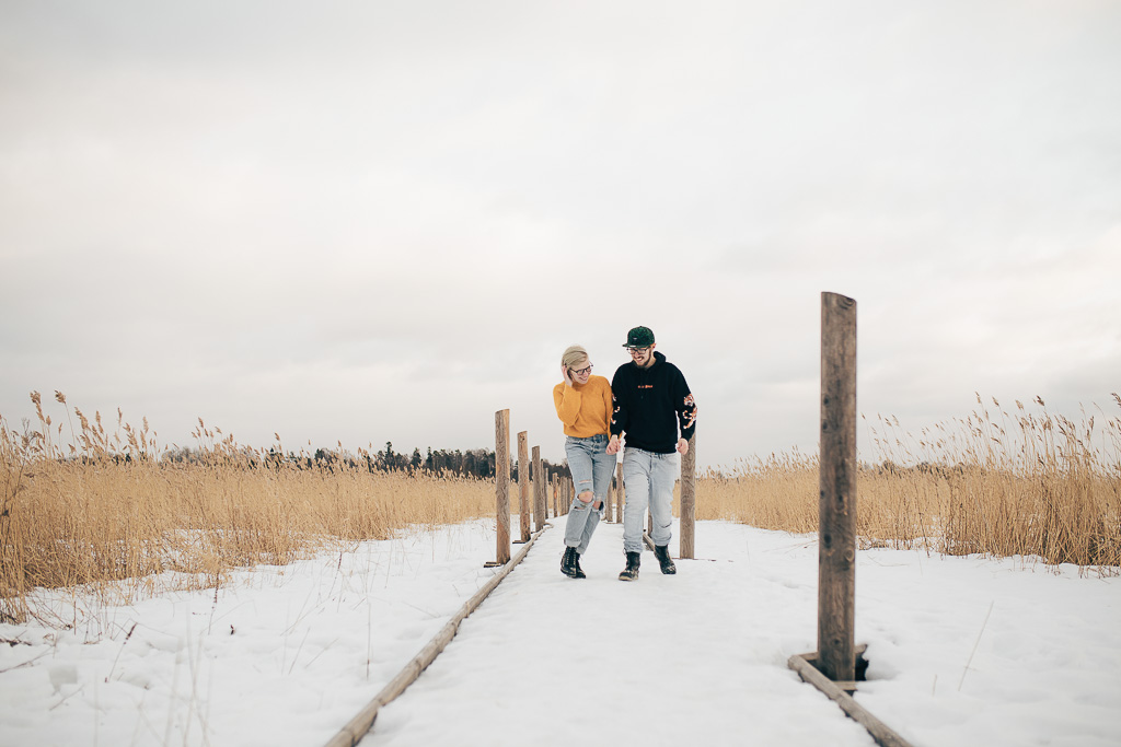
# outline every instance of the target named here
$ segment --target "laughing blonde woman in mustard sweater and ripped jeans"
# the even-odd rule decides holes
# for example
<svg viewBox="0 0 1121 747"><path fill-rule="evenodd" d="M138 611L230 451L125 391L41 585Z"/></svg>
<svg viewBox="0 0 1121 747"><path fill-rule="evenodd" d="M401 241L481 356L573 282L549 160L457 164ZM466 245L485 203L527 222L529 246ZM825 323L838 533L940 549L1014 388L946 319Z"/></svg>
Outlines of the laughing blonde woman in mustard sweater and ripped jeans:
<svg viewBox="0 0 1121 747"><path fill-rule="evenodd" d="M564 382L553 387L553 403L564 423L564 450L568 456L576 497L568 507L565 525L564 559L560 572L572 578L586 578L580 568L580 557L587 550L615 471L615 457L608 454L611 429L611 382L592 375L587 351L573 345L560 356ZM594 502L594 503L593 503Z"/></svg>

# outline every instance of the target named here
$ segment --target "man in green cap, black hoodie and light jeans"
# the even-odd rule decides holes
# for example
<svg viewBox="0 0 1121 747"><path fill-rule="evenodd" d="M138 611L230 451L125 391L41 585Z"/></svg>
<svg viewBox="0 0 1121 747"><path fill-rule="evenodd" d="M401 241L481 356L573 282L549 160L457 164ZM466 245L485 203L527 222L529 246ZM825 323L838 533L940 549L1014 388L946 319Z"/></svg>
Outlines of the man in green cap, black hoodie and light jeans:
<svg viewBox="0 0 1121 747"><path fill-rule="evenodd" d="M680 473L680 457L689 449L696 427L697 408L685 376L666 356L655 352L654 333L634 327L623 347L631 362L615 371L611 380L614 412L608 454L618 454L619 437L626 433L623 485L623 551L627 568L620 581L638 578L642 553L642 514L649 506L654 520L654 554L663 573L676 573L669 559L670 525L674 521L674 482Z"/></svg>

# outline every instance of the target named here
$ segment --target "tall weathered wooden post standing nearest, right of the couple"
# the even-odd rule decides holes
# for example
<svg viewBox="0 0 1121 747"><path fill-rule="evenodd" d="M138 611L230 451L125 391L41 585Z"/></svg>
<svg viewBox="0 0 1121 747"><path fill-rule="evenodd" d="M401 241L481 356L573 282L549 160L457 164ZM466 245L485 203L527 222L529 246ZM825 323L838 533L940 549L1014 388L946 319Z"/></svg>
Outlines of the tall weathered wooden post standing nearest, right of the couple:
<svg viewBox="0 0 1121 747"><path fill-rule="evenodd" d="M818 480L817 667L855 674L856 301L822 293L822 432Z"/></svg>

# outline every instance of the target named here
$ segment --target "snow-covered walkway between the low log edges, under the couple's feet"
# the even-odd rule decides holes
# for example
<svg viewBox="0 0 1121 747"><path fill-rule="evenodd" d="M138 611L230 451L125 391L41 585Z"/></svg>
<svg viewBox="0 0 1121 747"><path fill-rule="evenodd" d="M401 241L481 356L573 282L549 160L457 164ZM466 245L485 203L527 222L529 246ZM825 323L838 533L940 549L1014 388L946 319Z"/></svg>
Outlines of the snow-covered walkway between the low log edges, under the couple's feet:
<svg viewBox="0 0 1121 747"><path fill-rule="evenodd" d="M678 561L679 573L664 577L652 553L639 580L623 583L618 524L597 530L582 560L589 578L567 579L564 517L554 522L420 679L381 709L362 747L873 744L787 667L812 638L813 590L747 568L730 576L717 568L729 561ZM728 588L730 577L743 586ZM743 606L724 601L735 594L762 608L736 611Z"/></svg>

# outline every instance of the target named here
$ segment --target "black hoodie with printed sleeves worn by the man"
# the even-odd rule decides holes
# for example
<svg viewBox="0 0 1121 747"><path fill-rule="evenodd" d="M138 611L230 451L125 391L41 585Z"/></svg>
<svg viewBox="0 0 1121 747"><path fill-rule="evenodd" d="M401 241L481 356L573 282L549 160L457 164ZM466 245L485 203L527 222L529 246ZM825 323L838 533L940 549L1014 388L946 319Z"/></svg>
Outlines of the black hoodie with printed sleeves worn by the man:
<svg viewBox="0 0 1121 747"><path fill-rule="evenodd" d="M639 368L624 363L611 379L615 403L611 435L627 433L627 446L655 454L671 454L680 438L688 439L696 427L697 408L689 385L677 366L655 351L654 365Z"/></svg>

